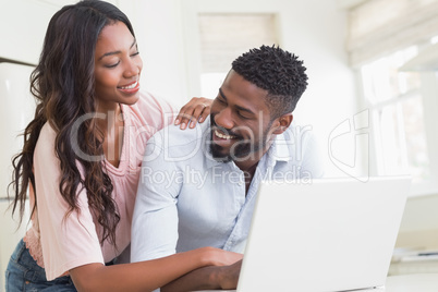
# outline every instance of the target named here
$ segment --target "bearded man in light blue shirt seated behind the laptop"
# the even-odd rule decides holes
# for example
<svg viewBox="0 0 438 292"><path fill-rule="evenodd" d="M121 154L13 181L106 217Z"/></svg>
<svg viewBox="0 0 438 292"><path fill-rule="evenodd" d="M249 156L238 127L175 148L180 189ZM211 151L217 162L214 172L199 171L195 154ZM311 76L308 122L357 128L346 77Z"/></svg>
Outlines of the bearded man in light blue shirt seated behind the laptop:
<svg viewBox="0 0 438 292"><path fill-rule="evenodd" d="M250 50L232 63L209 123L188 132L170 126L148 142L133 218L133 261L202 246L243 253L261 180L321 177L309 129L292 123L307 86L305 71L278 47ZM239 263L232 269L239 271ZM188 273L184 284L208 283L207 273Z"/></svg>

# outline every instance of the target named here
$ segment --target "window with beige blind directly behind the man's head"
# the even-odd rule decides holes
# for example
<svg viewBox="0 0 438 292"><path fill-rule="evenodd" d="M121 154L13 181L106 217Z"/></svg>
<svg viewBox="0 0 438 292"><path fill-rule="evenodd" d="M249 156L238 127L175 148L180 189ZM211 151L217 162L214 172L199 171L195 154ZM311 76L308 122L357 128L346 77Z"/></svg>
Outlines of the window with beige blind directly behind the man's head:
<svg viewBox="0 0 438 292"><path fill-rule="evenodd" d="M198 21L202 96L216 97L236 57L261 45L279 44L272 13L202 13Z"/></svg>

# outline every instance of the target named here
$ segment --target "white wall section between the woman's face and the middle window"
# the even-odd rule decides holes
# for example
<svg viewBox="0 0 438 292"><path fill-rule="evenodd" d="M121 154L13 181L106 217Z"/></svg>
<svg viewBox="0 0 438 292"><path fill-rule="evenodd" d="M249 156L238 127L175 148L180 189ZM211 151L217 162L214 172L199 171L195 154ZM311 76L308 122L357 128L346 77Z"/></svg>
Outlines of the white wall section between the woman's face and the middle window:
<svg viewBox="0 0 438 292"><path fill-rule="evenodd" d="M143 59L142 88L182 105L188 96L178 0L119 0L134 26Z"/></svg>

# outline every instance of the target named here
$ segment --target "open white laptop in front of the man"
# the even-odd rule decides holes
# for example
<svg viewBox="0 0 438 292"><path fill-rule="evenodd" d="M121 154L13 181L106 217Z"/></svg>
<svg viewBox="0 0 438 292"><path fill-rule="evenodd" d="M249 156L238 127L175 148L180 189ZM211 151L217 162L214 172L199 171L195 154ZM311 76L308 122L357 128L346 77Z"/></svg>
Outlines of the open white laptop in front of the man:
<svg viewBox="0 0 438 292"><path fill-rule="evenodd" d="M263 182L238 292L382 291L409 177Z"/></svg>

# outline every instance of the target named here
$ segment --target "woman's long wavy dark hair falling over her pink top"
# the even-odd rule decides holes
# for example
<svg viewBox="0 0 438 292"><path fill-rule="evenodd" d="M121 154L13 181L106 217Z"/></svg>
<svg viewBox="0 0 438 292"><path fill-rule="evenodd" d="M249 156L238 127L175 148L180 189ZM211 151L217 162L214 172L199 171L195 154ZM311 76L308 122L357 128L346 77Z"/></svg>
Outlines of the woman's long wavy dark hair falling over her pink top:
<svg viewBox="0 0 438 292"><path fill-rule="evenodd" d="M31 75L31 92L38 101L35 118L24 131L22 153L13 159L12 212L20 209L20 222L23 220L29 183L36 195L34 151L41 127L49 122L57 133L54 151L61 168L59 191L70 206L65 216L80 211L77 193L85 187L88 205L104 228L100 243L105 240L115 243L115 227L120 216L102 159L93 161L76 155L76 147L80 147L86 156L104 157L104 136L94 119L83 119L85 121L77 130L74 125L84 114L95 113L96 42L102 28L118 21L123 22L134 36L126 15L104 1L85 0L66 5L50 20L39 63ZM72 131L77 131L77 134ZM72 141L72 134L78 137L77 141ZM76 162L82 165L83 175ZM35 199L32 215L36 209Z"/></svg>

